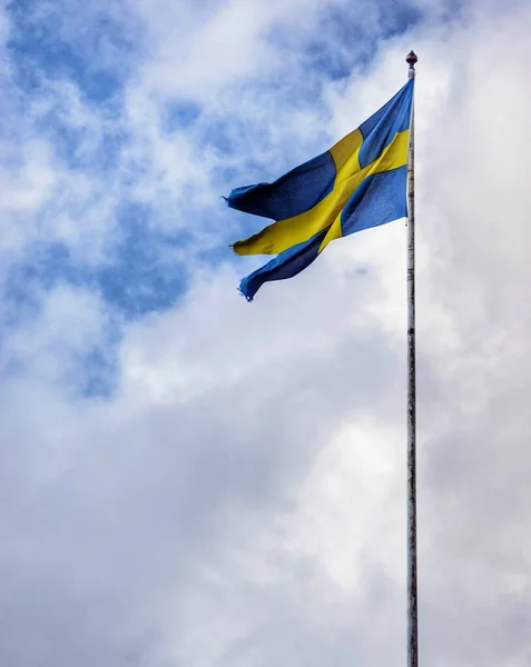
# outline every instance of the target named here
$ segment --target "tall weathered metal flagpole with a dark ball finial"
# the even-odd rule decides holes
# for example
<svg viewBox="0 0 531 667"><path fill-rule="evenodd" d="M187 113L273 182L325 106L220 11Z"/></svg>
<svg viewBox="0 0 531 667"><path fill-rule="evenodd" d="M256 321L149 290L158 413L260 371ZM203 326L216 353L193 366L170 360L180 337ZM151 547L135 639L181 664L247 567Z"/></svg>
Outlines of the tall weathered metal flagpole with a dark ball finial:
<svg viewBox="0 0 531 667"><path fill-rule="evenodd" d="M417 58L405 59L409 78L415 78ZM415 374L415 137L414 106L411 111L407 156L407 667L419 666L416 590L416 374Z"/></svg>

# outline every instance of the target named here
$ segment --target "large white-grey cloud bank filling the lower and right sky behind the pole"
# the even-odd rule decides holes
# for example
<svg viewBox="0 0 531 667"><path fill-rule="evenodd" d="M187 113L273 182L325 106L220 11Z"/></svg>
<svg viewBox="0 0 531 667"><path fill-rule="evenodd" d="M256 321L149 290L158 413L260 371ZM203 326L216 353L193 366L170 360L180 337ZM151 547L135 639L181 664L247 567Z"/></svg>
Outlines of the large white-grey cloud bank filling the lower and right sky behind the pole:
<svg viewBox="0 0 531 667"><path fill-rule="evenodd" d="M268 12L299 11L279 8ZM307 120L347 129L345 107L370 112L415 43L421 650L433 667L530 659L530 24L525 6L492 3L412 28L360 78L325 87ZM274 153L292 128L268 131ZM179 303L124 326L109 400L61 380L108 316L97 297L53 291L10 338L30 361L0 397L2 665L404 659L403 231L345 239L253 306L233 265L196 261Z"/></svg>

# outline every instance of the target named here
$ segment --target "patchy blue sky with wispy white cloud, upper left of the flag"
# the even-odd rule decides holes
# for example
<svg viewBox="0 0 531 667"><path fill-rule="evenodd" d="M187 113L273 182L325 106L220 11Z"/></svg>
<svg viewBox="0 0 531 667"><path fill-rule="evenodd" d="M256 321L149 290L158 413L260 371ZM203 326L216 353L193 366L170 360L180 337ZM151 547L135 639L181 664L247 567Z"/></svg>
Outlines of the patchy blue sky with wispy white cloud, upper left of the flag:
<svg viewBox="0 0 531 667"><path fill-rule="evenodd" d="M201 7L207 10L207 4ZM118 372L112 359L124 322L171 308L186 293L196 266L238 262L227 246L255 231L257 220L229 215L220 197L236 187L275 180L330 148L323 86L348 77L371 56L382 38L375 26L385 38L421 19L411 3L377 3L371 10L377 21L365 24L355 7L331 4L319 10L318 31L272 26L266 39L286 54L282 67L276 63L227 81L210 103L190 92L179 94L178 86L156 101L135 94L131 101L129 93L141 71L136 66L147 56L148 28L127 2L116 0L109 11L105 2L73 7L59 0L18 0L8 12L17 92L9 96L12 127L46 142L53 153L52 167L66 176L32 213L43 233L30 238L8 268L3 325L14 330L38 317L43 295L61 283L99 295L115 323L104 342L83 352L86 358L77 364L86 396L112 391ZM175 77L178 83L178 69ZM297 115L303 128L315 119L312 132L299 130ZM23 129L16 122L18 116L27 123ZM156 139L144 118L146 125L157 119ZM288 135L286 122L293 123ZM158 190L151 173L157 156L150 151L164 151L164 142L171 145L177 137L188 142L190 152L185 146L184 155L194 156L193 168L204 162L208 171L196 185L193 176L186 182L187 175L183 178L183 169L177 169L183 182L176 182L173 195L171 176L166 176L171 165L163 160L158 167L164 180ZM180 155L170 159L179 160ZM9 153L4 166L20 167L22 173L26 156ZM36 173L30 178L40 178L40 171ZM68 190L69 175L81 176L79 200L77 190ZM88 193L83 176L86 187L94 185ZM63 216L67 226L82 226L99 210L105 220L98 225L105 229L98 227L95 237L105 257L95 263L94 257L83 261L76 243L72 255L68 233L55 233L55 220Z"/></svg>

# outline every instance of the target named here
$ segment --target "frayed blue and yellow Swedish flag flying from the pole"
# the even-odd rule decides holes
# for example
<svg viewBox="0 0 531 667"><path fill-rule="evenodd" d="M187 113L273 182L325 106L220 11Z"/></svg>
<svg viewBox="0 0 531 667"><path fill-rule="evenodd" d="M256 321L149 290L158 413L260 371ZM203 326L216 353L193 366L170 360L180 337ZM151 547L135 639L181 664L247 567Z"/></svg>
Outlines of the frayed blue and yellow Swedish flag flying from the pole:
<svg viewBox="0 0 531 667"><path fill-rule="evenodd" d="M276 220L234 243L237 255L277 255L244 278L252 301L271 280L299 273L334 239L407 215L406 165L414 79L330 150L273 183L237 188L228 206Z"/></svg>

